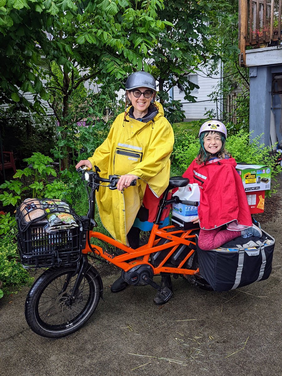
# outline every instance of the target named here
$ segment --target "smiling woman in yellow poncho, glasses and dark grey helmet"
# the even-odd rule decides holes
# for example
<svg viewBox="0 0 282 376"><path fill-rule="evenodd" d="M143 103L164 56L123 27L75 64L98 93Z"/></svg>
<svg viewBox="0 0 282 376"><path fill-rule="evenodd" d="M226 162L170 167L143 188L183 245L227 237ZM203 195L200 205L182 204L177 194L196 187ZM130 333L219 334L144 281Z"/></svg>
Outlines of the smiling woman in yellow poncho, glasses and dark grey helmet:
<svg viewBox="0 0 282 376"><path fill-rule="evenodd" d="M154 77L143 71L132 73L126 81L126 111L117 116L92 157L76 165L97 165L102 177L120 176L117 190L99 190L97 205L103 226L113 238L133 249L139 247L140 231L152 229L170 177L174 135L155 97ZM136 187L127 190L136 179ZM168 224L168 215L169 208L162 217L163 226ZM117 293L126 286L120 277L111 291Z"/></svg>

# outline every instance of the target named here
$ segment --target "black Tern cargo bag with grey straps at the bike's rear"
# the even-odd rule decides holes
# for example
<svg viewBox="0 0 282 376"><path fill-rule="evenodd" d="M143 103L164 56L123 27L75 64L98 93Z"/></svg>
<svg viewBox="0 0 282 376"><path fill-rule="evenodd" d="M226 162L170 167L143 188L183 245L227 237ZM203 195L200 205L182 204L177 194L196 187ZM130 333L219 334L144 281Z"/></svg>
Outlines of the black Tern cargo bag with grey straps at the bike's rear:
<svg viewBox="0 0 282 376"><path fill-rule="evenodd" d="M214 291L228 291L267 279L271 273L275 240L262 237L235 238L217 249L197 247L199 274Z"/></svg>

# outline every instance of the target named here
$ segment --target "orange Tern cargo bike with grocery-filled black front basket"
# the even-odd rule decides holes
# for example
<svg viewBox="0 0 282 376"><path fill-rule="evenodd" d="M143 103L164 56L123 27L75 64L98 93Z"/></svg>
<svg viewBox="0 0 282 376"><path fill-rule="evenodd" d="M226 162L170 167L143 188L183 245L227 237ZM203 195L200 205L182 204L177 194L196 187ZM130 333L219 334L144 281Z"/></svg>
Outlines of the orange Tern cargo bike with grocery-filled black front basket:
<svg viewBox="0 0 282 376"><path fill-rule="evenodd" d="M41 200L44 205L48 203L49 209L44 205L34 204L35 201L29 202L25 211L23 204L17 209L21 263L25 268L48 268L34 282L25 304L28 325L36 334L43 337L63 337L71 334L85 324L94 313L100 297L103 299L102 279L93 266L97 256L121 268L122 277L129 285L151 285L160 291L165 301L170 298L172 292L169 288L158 285L153 280L155 275L168 273L176 278L182 275L194 283L199 271L195 253L197 230L181 230L174 226L159 228L164 208L173 202L180 202L177 197L168 199L169 191L174 187L187 185L189 179L171 177L160 201L148 243L138 249L132 249L111 237L93 231L97 226L94 219L95 193L99 188L116 189L118 181L117 176L101 178L99 171L97 167L96 171L79 169L88 193L87 216L76 215L66 203L59 200ZM136 185L136 180L132 185ZM183 203L198 205L198 202ZM39 207L43 209L38 209ZM42 210L37 212L39 216L33 215L36 214L36 210ZM55 231L49 231L47 217L55 211L71 214L76 222L75 226L62 229L59 227ZM91 244L90 240L93 238L94 241L102 240L105 248ZM112 249L118 250L118 253ZM198 282L200 283L200 279Z"/></svg>

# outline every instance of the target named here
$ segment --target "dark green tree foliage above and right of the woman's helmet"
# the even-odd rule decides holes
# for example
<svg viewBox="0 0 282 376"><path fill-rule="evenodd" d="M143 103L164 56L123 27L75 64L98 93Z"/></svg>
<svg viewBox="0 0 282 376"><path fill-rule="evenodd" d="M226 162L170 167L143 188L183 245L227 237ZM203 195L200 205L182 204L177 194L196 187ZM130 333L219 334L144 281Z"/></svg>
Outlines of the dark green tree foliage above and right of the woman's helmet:
<svg viewBox="0 0 282 376"><path fill-rule="evenodd" d="M152 73L159 80L159 91L168 92L177 86L185 93L184 99L193 101L191 91L199 86L188 80L199 64L204 66L220 59L219 46L211 43L209 23L228 7L226 1L164 0L159 11L164 29L151 49Z"/></svg>

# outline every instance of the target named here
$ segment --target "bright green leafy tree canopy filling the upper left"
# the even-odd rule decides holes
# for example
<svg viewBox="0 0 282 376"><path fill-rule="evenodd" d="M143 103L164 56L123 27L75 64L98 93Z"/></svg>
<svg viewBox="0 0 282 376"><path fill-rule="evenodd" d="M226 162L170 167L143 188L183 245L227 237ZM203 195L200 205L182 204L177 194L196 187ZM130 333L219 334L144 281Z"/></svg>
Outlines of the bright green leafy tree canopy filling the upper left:
<svg viewBox="0 0 282 376"><path fill-rule="evenodd" d="M99 83L105 74L118 81L131 65L148 70L143 60L165 27L158 19L162 8L162 0L6 2L0 8L1 102L17 102L40 111L40 98L53 102L53 87L63 102L61 121L81 82L97 78ZM129 63L126 67L124 61ZM42 85L47 76L55 86ZM33 94L33 105L21 91Z"/></svg>

